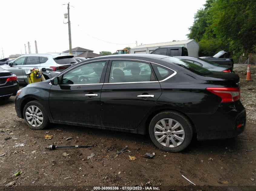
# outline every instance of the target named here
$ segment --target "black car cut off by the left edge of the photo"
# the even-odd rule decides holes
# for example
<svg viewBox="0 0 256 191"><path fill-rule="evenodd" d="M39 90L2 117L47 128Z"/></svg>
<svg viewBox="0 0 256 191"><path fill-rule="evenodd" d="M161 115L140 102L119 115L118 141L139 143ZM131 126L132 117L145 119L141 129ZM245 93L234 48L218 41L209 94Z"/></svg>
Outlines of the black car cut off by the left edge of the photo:
<svg viewBox="0 0 256 191"><path fill-rule="evenodd" d="M15 96L18 89L19 83L16 75L0 67L0 99Z"/></svg>

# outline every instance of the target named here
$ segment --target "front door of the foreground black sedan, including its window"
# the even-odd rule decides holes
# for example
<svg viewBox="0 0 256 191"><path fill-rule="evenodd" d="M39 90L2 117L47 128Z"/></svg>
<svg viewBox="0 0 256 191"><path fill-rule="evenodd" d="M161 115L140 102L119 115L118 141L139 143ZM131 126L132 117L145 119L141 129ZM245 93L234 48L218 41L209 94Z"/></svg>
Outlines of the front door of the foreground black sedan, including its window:
<svg viewBox="0 0 256 191"><path fill-rule="evenodd" d="M50 89L49 107L55 121L102 125L100 96L107 61L78 65Z"/></svg>

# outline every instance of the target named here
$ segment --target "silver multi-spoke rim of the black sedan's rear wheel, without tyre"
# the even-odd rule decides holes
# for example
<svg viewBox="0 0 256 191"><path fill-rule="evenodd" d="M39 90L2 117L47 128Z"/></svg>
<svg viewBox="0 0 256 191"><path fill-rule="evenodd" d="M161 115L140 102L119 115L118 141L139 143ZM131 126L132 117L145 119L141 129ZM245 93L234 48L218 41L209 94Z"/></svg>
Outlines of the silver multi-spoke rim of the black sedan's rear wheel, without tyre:
<svg viewBox="0 0 256 191"><path fill-rule="evenodd" d="M154 128L154 134L156 140L168 148L178 147L185 139L185 131L182 125L170 118L158 121Z"/></svg>

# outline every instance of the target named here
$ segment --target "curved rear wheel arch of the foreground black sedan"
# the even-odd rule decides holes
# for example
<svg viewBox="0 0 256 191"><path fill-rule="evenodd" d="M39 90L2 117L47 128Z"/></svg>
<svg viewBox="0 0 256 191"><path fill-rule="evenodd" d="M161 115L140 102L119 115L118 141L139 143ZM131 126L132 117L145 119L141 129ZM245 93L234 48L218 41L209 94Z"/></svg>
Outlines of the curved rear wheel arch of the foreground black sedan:
<svg viewBox="0 0 256 191"><path fill-rule="evenodd" d="M189 122L191 123L192 128L193 128L193 133L197 133L195 125L194 125L193 121L188 117L188 115L186 115L185 113L183 113L181 111L178 111L178 110L166 108L166 109L155 110L155 111L153 111L152 113L149 114L149 116L148 116L148 118L146 119L146 122L145 122L145 134L147 134L147 135L149 134L148 127L149 127L149 124L150 124L151 120L153 119L153 117L155 115L157 115L158 113L165 112L165 111L173 111L173 112L177 112L177 113L180 113L180 114L184 115L186 118L188 118Z"/></svg>

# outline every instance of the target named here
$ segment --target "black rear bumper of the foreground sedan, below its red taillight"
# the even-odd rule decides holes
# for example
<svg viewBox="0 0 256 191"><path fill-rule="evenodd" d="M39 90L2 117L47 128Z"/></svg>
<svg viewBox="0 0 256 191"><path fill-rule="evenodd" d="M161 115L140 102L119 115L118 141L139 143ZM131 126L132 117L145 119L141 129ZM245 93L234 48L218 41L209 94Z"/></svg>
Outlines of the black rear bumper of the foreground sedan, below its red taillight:
<svg viewBox="0 0 256 191"><path fill-rule="evenodd" d="M188 114L194 123L198 140L236 137L246 126L246 111L240 100L221 103L212 114Z"/></svg>

